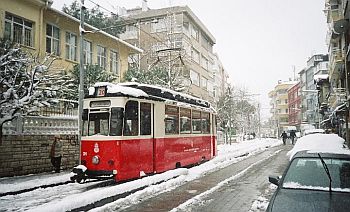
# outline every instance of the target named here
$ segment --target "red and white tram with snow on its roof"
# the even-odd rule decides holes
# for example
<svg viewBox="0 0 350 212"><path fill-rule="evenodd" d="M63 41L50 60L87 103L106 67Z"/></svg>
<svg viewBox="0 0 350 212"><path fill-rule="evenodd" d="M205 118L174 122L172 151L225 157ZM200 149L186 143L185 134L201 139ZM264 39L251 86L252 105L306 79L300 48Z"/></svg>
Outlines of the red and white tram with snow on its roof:
<svg viewBox="0 0 350 212"><path fill-rule="evenodd" d="M156 86L96 83L84 99L81 165L73 180L116 181L216 155L216 118L201 99Z"/></svg>

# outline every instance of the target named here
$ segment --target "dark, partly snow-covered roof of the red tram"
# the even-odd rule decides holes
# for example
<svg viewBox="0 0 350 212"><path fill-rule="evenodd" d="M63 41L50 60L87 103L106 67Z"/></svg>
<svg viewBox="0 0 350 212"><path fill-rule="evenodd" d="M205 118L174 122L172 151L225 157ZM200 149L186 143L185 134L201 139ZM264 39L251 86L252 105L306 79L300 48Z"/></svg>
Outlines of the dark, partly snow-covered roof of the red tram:
<svg viewBox="0 0 350 212"><path fill-rule="evenodd" d="M135 82L119 84L98 82L93 87L89 88L89 94L86 96L86 98L99 97L99 95L97 95L99 88L106 89L104 92L104 97L127 96L152 99L155 101L172 100L205 108L211 108L211 105L208 101L202 100L200 98L155 85L140 84Z"/></svg>

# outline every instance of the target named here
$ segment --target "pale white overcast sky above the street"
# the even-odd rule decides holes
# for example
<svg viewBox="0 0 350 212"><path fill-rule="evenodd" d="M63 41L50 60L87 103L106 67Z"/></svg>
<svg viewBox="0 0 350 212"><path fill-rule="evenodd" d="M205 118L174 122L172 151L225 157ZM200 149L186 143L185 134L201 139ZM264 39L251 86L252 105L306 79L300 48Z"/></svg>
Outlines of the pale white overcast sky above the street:
<svg viewBox="0 0 350 212"><path fill-rule="evenodd" d="M61 9L73 0L54 0ZM141 6L142 0L93 0L109 10ZM93 5L85 0L87 7ZM148 0L151 9L188 5L216 38L218 53L230 81L260 94L278 80L287 81L306 66L313 54L326 54L324 0ZM267 111L263 111L266 118Z"/></svg>

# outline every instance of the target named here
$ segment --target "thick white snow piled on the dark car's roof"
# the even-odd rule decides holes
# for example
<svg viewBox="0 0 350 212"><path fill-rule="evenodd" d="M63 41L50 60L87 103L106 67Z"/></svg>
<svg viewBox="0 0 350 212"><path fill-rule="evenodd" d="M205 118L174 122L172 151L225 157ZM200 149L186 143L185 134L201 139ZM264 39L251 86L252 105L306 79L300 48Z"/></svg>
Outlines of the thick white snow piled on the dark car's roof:
<svg viewBox="0 0 350 212"><path fill-rule="evenodd" d="M300 151L338 153L350 155L350 150L344 148L344 139L336 134L310 134L297 140L292 150L287 153L289 159Z"/></svg>

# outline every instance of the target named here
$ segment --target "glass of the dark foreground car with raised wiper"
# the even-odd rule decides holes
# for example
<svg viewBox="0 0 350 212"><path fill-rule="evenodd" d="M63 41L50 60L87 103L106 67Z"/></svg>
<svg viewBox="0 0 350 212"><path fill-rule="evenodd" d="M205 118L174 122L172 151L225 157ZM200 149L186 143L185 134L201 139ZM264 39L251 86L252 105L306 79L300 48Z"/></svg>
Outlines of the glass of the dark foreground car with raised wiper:
<svg viewBox="0 0 350 212"><path fill-rule="evenodd" d="M332 178L332 191L350 192L350 161L324 158ZM319 158L296 158L282 184L283 188L329 190L329 178Z"/></svg>

